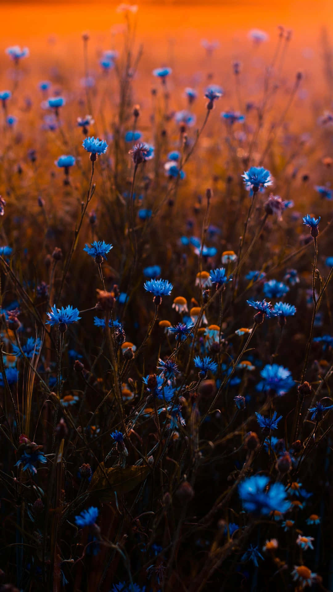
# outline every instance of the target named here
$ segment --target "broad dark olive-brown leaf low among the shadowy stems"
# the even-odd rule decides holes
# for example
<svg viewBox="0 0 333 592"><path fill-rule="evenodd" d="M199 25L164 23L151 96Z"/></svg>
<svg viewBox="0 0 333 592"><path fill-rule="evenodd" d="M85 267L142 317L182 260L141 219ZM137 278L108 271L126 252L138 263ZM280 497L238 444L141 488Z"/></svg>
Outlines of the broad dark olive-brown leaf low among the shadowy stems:
<svg viewBox="0 0 333 592"><path fill-rule="evenodd" d="M148 466L113 466L106 469L102 462L92 475L88 491L97 494L104 501L110 501L114 499L114 491L117 496L129 493L144 481L148 474Z"/></svg>

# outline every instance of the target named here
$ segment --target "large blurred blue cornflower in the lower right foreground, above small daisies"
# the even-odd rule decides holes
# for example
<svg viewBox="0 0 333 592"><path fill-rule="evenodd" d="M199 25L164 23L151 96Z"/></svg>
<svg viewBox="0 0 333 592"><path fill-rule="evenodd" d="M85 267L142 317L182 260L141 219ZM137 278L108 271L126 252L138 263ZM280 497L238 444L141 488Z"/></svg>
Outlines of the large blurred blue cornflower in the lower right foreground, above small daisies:
<svg viewBox="0 0 333 592"><path fill-rule="evenodd" d="M254 475L239 484L239 497L244 510L267 516L277 510L284 514L289 510L286 488L280 482L273 483L267 491L269 478L265 475Z"/></svg>

